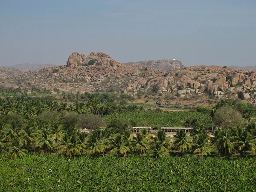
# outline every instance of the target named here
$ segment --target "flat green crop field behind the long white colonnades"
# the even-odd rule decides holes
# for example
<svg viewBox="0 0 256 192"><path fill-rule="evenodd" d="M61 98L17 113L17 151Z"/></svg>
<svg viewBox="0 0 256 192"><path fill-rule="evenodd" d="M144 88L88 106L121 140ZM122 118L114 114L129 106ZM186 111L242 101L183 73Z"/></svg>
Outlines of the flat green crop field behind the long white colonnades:
<svg viewBox="0 0 256 192"><path fill-rule="evenodd" d="M183 127L187 119L197 119L200 123L209 123L207 113L198 111L131 111L117 114L117 117L128 119L133 126L160 126L160 127ZM105 122L109 122L112 116L105 116Z"/></svg>

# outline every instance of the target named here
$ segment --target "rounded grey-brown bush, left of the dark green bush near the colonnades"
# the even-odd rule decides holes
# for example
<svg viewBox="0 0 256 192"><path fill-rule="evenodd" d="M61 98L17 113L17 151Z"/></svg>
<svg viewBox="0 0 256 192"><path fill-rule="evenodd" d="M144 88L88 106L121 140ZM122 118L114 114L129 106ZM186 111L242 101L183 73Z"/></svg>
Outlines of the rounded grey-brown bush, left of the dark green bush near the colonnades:
<svg viewBox="0 0 256 192"><path fill-rule="evenodd" d="M105 126L105 122L102 118L93 114L81 114L78 124L82 129L96 129Z"/></svg>

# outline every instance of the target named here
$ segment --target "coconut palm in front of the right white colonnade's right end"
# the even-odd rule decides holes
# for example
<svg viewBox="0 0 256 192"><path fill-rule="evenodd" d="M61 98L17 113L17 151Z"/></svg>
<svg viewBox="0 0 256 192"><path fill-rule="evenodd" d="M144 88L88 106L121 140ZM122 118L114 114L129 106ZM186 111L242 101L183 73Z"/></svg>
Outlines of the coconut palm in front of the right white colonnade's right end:
<svg viewBox="0 0 256 192"><path fill-rule="evenodd" d="M183 129L177 132L174 136L174 143L173 143L174 148L177 150L180 150L181 154L183 155L185 150L190 151L192 148L192 144L189 141L188 135L184 132Z"/></svg>

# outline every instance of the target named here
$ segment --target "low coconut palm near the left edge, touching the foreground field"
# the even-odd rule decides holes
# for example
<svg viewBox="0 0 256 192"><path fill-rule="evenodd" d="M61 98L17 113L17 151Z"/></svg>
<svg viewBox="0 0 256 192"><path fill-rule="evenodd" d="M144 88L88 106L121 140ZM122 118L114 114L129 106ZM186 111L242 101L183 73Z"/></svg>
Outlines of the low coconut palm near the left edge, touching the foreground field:
<svg viewBox="0 0 256 192"><path fill-rule="evenodd" d="M9 156L15 159L17 157L25 157L27 150L23 148L23 144L20 144L17 138L13 138L11 146L8 147L8 152Z"/></svg>

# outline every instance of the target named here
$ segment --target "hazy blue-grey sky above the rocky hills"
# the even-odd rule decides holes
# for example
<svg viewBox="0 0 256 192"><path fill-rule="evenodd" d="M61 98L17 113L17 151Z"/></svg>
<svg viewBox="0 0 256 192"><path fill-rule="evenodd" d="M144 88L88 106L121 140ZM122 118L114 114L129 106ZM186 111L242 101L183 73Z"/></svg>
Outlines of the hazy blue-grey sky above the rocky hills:
<svg viewBox="0 0 256 192"><path fill-rule="evenodd" d="M0 0L0 65L119 62L256 65L256 0Z"/></svg>

